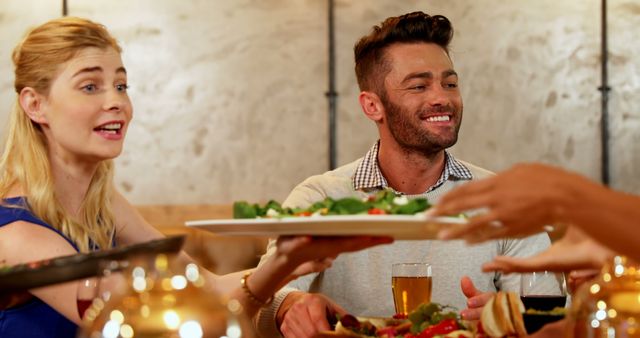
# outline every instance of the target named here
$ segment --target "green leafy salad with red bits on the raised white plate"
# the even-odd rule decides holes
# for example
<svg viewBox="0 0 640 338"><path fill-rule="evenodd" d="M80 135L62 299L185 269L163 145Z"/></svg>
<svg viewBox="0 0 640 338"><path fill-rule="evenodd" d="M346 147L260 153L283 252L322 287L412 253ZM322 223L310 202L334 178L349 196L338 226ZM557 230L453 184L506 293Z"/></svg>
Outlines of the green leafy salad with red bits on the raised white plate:
<svg viewBox="0 0 640 338"><path fill-rule="evenodd" d="M333 199L330 197L316 202L308 208L284 208L276 201L265 205L245 201L233 204L233 218L296 217L312 215L413 215L427 210L431 205L426 198L409 199L391 190L382 190L361 200L354 197Z"/></svg>

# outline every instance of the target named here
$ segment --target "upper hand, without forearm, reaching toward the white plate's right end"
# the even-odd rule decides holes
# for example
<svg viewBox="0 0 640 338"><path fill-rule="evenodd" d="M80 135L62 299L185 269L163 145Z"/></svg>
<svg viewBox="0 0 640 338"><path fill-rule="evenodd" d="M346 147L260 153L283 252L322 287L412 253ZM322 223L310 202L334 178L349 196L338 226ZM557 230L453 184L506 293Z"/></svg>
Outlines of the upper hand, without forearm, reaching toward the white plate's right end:
<svg viewBox="0 0 640 338"><path fill-rule="evenodd" d="M575 187L588 180L542 164L516 165L497 176L470 182L446 194L433 215L452 215L486 208L468 224L443 231L442 239L482 242L503 237L525 237L544 225L563 222L566 201ZM593 184L593 183L588 183Z"/></svg>

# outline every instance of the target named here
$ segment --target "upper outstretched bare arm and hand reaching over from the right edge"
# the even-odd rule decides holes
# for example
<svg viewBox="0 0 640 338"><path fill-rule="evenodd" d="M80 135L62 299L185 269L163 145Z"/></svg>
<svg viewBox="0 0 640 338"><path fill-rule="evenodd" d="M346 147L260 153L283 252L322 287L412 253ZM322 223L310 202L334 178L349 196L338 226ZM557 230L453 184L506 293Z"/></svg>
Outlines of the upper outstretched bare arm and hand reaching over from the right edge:
<svg viewBox="0 0 640 338"><path fill-rule="evenodd" d="M444 196L435 215L477 208L488 212L442 238L470 242L522 237L545 224L580 227L603 245L640 259L640 197L615 192L575 173L542 164L521 164L497 176L471 182Z"/></svg>

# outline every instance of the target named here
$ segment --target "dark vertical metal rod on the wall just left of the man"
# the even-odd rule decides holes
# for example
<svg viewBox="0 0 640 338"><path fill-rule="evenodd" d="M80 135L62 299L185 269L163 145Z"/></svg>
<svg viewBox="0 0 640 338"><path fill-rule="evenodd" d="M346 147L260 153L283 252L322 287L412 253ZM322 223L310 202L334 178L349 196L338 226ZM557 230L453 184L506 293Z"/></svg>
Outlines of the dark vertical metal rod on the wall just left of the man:
<svg viewBox="0 0 640 338"><path fill-rule="evenodd" d="M336 53L334 27L334 0L329 1L329 91L325 93L329 101L329 170L336 168L336 110L338 93L336 92Z"/></svg>

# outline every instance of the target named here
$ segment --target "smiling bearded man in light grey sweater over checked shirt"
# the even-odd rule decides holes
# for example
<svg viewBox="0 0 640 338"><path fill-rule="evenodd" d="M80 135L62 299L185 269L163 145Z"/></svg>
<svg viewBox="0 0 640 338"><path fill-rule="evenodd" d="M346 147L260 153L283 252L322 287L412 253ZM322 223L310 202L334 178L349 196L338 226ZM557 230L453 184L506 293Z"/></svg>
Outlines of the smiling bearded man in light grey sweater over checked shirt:
<svg viewBox="0 0 640 338"><path fill-rule="evenodd" d="M447 18L422 12L389 18L363 37L355 46L358 98L380 139L363 158L302 182L284 205L306 207L325 197L364 198L381 189L435 203L457 185L491 175L446 151L456 143L462 122L458 74L448 50L452 37ZM493 292L519 291L520 286L519 276L482 273L482 263L498 255L530 256L548 246L549 238L542 234L472 247L461 241L396 241L343 255L332 268L283 289L263 309L260 332L274 336L278 328L285 337L312 337L329 329L328 313L345 310L390 316L391 265L403 262L430 263L432 301L477 319ZM265 257L274 249L272 242Z"/></svg>

